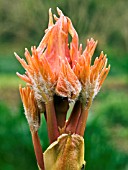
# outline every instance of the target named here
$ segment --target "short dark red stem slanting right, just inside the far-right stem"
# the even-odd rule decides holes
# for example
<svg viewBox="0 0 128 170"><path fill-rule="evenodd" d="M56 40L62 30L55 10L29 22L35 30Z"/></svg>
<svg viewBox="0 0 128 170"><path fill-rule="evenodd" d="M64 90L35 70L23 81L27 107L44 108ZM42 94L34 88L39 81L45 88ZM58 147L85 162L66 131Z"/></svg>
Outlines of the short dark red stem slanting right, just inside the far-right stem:
<svg viewBox="0 0 128 170"><path fill-rule="evenodd" d="M67 133L75 133L80 113L81 113L81 103L80 101L76 101L74 108L72 110L72 113L67 122L67 125L66 125Z"/></svg>

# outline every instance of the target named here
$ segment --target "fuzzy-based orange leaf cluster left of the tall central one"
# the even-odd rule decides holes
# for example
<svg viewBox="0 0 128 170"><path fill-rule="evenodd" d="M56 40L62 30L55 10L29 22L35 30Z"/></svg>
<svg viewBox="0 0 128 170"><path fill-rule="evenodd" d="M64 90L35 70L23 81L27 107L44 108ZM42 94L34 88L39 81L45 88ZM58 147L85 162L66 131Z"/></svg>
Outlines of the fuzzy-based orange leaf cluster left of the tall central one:
<svg viewBox="0 0 128 170"><path fill-rule="evenodd" d="M31 51L32 56L25 49L28 64L15 53L16 58L26 70L25 75L19 73L17 75L32 86L38 103L47 102L53 97L56 76L53 74L47 59L43 56L39 58L36 47L32 47Z"/></svg>

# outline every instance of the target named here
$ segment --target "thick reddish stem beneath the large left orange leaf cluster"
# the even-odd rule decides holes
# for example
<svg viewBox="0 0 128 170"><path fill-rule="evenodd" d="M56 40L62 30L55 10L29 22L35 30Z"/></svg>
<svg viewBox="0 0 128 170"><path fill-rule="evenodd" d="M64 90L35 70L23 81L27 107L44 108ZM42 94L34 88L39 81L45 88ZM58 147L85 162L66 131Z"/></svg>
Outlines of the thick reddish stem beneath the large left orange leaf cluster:
<svg viewBox="0 0 128 170"><path fill-rule="evenodd" d="M50 143L56 141L59 136L54 101L48 101L46 104L47 128Z"/></svg>

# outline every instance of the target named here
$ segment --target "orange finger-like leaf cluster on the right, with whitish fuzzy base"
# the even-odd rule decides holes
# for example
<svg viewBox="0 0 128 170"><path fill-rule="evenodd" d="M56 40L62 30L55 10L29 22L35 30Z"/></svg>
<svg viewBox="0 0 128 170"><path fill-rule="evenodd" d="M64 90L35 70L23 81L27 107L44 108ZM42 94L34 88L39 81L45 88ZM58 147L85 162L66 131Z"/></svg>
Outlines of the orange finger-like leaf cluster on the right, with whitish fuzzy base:
<svg viewBox="0 0 128 170"><path fill-rule="evenodd" d="M73 68L81 82L81 101L85 104L97 95L110 70L110 65L107 67L107 58L103 52L95 59L94 64L91 65L91 59L96 45L97 41L95 42L92 38L88 40L87 47L79 55L77 64Z"/></svg>

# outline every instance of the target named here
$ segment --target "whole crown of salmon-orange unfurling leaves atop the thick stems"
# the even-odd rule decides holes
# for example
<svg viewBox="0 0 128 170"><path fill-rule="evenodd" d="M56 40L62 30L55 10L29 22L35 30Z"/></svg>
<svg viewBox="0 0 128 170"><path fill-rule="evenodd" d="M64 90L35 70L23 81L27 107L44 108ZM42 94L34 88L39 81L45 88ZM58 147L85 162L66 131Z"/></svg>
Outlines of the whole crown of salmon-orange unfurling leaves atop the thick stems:
<svg viewBox="0 0 128 170"><path fill-rule="evenodd" d="M55 94L69 100L79 96L84 101L94 98L110 69L103 52L91 65L97 41L88 40L82 52L71 20L58 8L57 11L59 18L49 10L48 29L39 46L31 48L32 55L25 49L27 62L15 54L26 70L25 75L17 74L32 87L40 108L41 102L47 103ZM72 37L70 43L69 35Z"/></svg>

